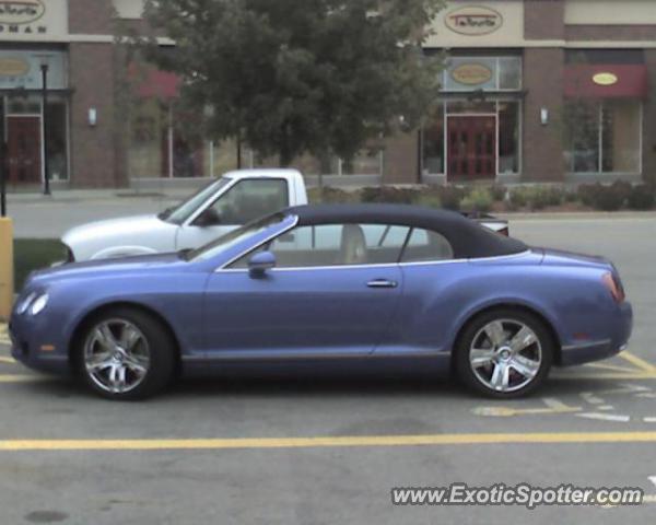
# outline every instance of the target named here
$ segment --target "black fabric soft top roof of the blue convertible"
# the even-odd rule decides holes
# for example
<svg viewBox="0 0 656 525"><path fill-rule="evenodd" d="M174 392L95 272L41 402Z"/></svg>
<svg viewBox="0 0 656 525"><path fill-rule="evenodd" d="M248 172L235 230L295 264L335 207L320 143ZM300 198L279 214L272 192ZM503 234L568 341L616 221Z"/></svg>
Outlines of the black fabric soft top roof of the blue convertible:
<svg viewBox="0 0 656 525"><path fill-rule="evenodd" d="M318 205L288 208L298 225L359 223L396 224L437 232L449 242L458 259L496 257L526 252L515 238L496 234L460 213L405 205Z"/></svg>

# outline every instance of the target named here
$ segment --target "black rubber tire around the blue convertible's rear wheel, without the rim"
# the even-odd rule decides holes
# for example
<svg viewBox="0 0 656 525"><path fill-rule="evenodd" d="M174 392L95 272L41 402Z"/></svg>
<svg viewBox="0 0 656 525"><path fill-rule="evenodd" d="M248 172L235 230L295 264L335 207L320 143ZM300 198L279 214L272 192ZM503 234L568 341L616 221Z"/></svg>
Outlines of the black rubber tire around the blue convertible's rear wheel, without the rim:
<svg viewBox="0 0 656 525"><path fill-rule="evenodd" d="M535 377L525 386L512 392L497 392L483 383L475 373L470 363L473 339L490 323L501 319L520 323L530 328L536 335L541 350L541 362ZM544 383L553 363L555 342L549 328L536 315L518 310L499 308L485 312L471 319L461 331L454 353L456 373L467 387L493 399L516 399L530 395Z"/></svg>

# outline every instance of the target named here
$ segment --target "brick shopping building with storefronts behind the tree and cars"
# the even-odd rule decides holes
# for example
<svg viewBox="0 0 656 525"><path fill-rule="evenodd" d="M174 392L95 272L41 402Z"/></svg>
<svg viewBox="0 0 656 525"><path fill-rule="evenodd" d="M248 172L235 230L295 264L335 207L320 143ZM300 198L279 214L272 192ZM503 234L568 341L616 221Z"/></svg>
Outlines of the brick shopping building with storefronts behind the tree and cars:
<svg viewBox="0 0 656 525"><path fill-rule="evenodd" d="M168 73L141 74L127 121L119 114L120 80L131 72L114 33L117 23L142 26L142 3L0 0L10 188L43 183L45 150L55 187L200 183L235 166L234 144L188 136ZM302 159L308 177L513 184L656 175L653 0L452 0L434 30L426 54L445 52L447 63L423 128L350 163ZM248 151L245 159L260 162Z"/></svg>

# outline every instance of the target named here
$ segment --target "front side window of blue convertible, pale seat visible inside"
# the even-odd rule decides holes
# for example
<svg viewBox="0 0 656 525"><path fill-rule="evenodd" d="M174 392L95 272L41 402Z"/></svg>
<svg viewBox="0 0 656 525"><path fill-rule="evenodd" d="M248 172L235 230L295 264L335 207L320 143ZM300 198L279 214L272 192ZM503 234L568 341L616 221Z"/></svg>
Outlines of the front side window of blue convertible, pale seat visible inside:
<svg viewBox="0 0 656 525"><path fill-rule="evenodd" d="M276 255L278 268L397 264L410 229L386 224L298 226L259 250ZM233 268L247 268L247 254Z"/></svg>

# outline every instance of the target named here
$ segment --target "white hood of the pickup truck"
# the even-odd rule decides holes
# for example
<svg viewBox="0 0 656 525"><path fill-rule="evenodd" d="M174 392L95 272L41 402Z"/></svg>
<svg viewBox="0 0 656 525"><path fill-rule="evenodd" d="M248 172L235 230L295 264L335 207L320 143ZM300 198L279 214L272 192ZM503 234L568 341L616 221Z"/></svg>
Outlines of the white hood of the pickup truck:
<svg viewBox="0 0 656 525"><path fill-rule="evenodd" d="M148 234L155 235L159 231L176 229L175 224L169 224L157 215L133 215L121 219L109 219L106 221L90 222L82 226L75 226L63 234L61 241L70 247L75 247L85 243L93 243L97 238L105 241L117 238L136 237Z"/></svg>

